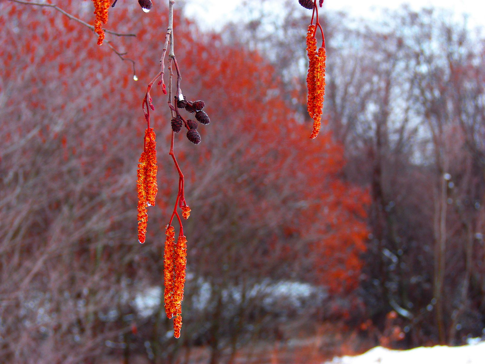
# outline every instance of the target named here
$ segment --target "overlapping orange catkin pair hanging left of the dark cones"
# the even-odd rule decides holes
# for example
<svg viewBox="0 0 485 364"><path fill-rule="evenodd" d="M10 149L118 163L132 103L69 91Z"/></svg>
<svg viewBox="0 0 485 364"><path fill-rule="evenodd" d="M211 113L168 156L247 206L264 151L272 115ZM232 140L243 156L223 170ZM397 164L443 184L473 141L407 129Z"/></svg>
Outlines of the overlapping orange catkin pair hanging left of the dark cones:
<svg viewBox="0 0 485 364"><path fill-rule="evenodd" d="M138 160L136 189L138 194L138 241L145 243L148 213L146 208L155 205L157 196L157 151L153 128L145 131L145 150Z"/></svg>

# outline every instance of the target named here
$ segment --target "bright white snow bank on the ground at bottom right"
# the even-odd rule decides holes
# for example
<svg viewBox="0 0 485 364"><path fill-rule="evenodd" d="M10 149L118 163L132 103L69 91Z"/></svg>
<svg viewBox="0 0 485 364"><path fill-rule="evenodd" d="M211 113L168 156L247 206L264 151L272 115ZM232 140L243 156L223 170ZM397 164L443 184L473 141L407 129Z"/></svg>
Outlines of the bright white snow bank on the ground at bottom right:
<svg viewBox="0 0 485 364"><path fill-rule="evenodd" d="M469 341L470 342L470 341ZM374 347L358 356L334 358L326 364L484 364L485 341L463 347L416 347L390 350Z"/></svg>

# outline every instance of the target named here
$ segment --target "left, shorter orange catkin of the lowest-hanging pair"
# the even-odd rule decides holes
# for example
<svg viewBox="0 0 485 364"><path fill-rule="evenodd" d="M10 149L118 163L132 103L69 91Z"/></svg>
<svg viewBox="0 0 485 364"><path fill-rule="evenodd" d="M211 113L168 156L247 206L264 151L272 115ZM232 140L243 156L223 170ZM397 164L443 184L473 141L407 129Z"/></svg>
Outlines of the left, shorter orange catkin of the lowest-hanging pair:
<svg viewBox="0 0 485 364"><path fill-rule="evenodd" d="M175 253L175 228L169 226L165 231L165 247L163 253L163 300L165 302L165 314L172 318L176 314L174 307L174 253Z"/></svg>

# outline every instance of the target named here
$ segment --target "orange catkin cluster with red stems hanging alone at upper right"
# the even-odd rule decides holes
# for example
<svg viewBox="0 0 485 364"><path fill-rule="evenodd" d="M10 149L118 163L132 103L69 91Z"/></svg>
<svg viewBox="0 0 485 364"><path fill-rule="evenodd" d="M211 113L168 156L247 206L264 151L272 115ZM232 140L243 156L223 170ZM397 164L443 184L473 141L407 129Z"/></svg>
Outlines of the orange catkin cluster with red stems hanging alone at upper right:
<svg viewBox="0 0 485 364"><path fill-rule="evenodd" d="M323 97L325 95L325 38L323 36L322 26L318 20L318 8L316 0L299 0L300 5L307 9L313 9L313 16L311 24L307 31L307 56L308 56L308 73L307 73L307 111L308 115L313 119L313 131L310 139L315 138L322 127L322 108ZM322 6L323 1L319 2ZM315 17L316 15L316 17ZM313 24L313 18L316 18L316 23ZM317 39L315 33L317 27L322 33L322 47L317 51Z"/></svg>

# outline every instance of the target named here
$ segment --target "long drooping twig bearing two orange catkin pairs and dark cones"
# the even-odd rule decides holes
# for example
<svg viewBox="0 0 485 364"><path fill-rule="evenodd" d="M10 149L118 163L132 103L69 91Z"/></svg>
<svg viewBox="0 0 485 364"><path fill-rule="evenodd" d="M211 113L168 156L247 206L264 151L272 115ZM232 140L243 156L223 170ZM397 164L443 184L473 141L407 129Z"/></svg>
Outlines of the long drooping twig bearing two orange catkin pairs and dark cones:
<svg viewBox="0 0 485 364"><path fill-rule="evenodd" d="M142 8L149 10L151 8L151 2L148 0L139 0ZM189 101L182 94L180 89L180 83L182 80L180 69L178 67L177 58L174 53L173 39L173 5L174 1L169 1L169 26L165 35L165 45L162 53L162 60L160 62L161 70L148 84L146 89L145 98L142 101L142 110L145 116L147 129L145 134L144 152L140 157L138 163L138 240L140 243L145 242L146 238L146 226L147 226L147 207L155 204L155 195L157 192L156 181L156 151L155 151L155 133L153 128L150 128L151 111L155 110L153 100L150 96L152 86L157 80L158 85L162 86L162 93L167 95L168 93L168 106L172 119L170 125L172 127L172 135L170 142L170 156L178 171L178 193L175 199L175 206L170 217L168 224L165 226L165 246L163 252L163 279L164 279L164 303L165 313L168 318L174 319L174 336L180 337L180 329L182 327L182 299L185 285L185 269L187 265L187 238L183 233L182 219L188 219L191 213L191 208L185 201L185 180L182 174L182 170L178 165L177 158L175 157L175 136L176 133L182 130L182 126L187 128L187 139L194 144L201 142L200 134L197 127L200 124L207 125L210 123L210 118L204 109L206 103L202 100ZM170 48L169 48L170 46ZM168 68L169 82L168 88L166 88L163 82L163 76L165 74L165 56L167 50L170 49L168 55ZM176 93L173 94L172 76L173 67L177 71L177 88ZM185 119L180 113L187 112L189 114L195 114L195 120ZM179 210L181 210L181 214ZM176 219L180 226L178 233L177 243L175 241L175 228L172 226L173 220Z"/></svg>

